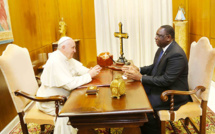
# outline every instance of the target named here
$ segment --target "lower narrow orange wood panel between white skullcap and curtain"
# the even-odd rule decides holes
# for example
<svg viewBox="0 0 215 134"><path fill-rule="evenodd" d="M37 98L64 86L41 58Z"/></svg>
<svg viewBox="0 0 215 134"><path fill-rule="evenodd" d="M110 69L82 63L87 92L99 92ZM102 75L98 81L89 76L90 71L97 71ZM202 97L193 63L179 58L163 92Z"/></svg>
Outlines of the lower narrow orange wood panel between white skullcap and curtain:
<svg viewBox="0 0 215 134"><path fill-rule="evenodd" d="M92 67L97 64L97 51L95 39L84 39L85 48L85 63L87 67Z"/></svg>

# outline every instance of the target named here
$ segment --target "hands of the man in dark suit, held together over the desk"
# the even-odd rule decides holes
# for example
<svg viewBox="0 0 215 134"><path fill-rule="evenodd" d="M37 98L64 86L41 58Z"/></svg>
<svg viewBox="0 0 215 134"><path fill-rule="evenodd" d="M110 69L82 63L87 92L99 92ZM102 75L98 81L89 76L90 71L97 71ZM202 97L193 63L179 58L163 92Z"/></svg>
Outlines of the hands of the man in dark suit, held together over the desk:
<svg viewBox="0 0 215 134"><path fill-rule="evenodd" d="M140 79L142 78L142 74L140 73L139 69L137 69L135 67L130 67L128 70L125 70L124 75L128 79L140 81Z"/></svg>

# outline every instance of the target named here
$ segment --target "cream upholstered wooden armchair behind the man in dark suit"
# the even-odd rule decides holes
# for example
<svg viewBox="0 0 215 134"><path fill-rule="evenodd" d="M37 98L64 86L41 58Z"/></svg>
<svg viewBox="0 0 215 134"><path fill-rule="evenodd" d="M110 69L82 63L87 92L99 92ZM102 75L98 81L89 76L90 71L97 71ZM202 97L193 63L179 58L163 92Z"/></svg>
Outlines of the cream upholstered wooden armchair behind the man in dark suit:
<svg viewBox="0 0 215 134"><path fill-rule="evenodd" d="M190 48L188 84L190 91L167 90L161 95L163 101L170 97L170 110L158 111L161 120L161 133L165 134L165 121L185 119L185 126L191 123L197 133L206 133L206 110L210 92L210 84L215 65L215 49L208 38L202 37L193 42ZM174 109L174 95L191 95L193 102L182 105L177 111ZM200 130L193 124L192 118L200 116ZM173 129L174 129L174 125Z"/></svg>

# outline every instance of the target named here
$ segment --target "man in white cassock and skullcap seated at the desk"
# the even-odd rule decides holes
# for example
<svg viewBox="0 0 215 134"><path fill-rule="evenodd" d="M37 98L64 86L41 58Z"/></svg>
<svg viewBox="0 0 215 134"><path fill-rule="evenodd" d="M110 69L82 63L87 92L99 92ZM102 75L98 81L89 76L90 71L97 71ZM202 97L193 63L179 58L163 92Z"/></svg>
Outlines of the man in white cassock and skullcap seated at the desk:
<svg viewBox="0 0 215 134"><path fill-rule="evenodd" d="M37 96L47 97L54 95L64 95L69 97L70 92L92 80L99 74L101 67L88 69L79 61L73 59L76 52L76 45L72 38L62 37L58 42L58 50L53 52L45 64L41 75L41 87L37 91ZM55 103L37 102L37 107L47 114L55 116ZM61 109L62 106L60 106ZM68 117L57 118L55 123L55 134L76 134L77 129L67 125Z"/></svg>

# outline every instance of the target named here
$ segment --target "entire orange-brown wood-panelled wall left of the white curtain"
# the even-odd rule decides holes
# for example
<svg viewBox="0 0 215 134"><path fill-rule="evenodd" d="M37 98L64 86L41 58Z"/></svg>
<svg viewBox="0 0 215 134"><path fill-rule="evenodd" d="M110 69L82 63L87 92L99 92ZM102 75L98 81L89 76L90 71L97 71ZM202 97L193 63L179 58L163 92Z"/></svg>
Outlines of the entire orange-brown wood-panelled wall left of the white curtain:
<svg viewBox="0 0 215 134"><path fill-rule="evenodd" d="M93 0L8 0L8 4L13 43L26 47L32 62L38 60L38 54L52 51L51 44L59 39L58 23L63 17L67 35L80 39L80 61L88 67L96 64ZM0 45L0 55L6 46ZM1 73L0 80L0 100L8 102L0 103L1 131L16 116L16 111Z"/></svg>

